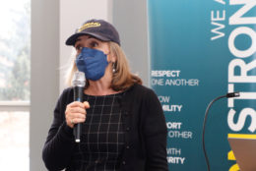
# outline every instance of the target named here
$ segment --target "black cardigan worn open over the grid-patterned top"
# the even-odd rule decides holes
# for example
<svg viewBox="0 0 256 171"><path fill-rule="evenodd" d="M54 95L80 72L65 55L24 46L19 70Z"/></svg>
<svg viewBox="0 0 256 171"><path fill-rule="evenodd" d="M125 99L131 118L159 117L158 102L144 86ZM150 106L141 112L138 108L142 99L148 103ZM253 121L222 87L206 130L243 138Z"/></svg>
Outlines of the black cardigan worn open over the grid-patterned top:
<svg viewBox="0 0 256 171"><path fill-rule="evenodd" d="M71 170L76 142L73 129L65 122L66 106L73 101L73 88L58 99L54 119L43 146L42 158L50 171ZM126 90L120 105L125 128L121 171L167 171L164 115L155 92L143 85Z"/></svg>

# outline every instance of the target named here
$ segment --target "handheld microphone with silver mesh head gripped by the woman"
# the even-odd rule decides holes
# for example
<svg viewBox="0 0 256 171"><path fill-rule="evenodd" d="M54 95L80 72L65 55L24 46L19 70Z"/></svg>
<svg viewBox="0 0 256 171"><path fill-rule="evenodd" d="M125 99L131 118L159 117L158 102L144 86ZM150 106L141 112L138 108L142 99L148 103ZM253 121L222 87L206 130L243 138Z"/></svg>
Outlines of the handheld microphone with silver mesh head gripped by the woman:
<svg viewBox="0 0 256 171"><path fill-rule="evenodd" d="M73 79L74 101L83 102L85 85L86 85L85 74L82 72L76 72ZM81 136L80 123L74 126L73 134L75 136L75 141L80 142L80 136Z"/></svg>

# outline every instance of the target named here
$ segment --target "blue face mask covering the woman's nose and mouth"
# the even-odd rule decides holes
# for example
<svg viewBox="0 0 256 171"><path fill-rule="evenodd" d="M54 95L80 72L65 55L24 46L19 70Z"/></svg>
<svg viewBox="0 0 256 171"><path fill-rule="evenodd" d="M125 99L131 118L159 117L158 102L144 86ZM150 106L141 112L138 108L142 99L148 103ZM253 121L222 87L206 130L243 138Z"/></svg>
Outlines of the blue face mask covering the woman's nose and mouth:
<svg viewBox="0 0 256 171"><path fill-rule="evenodd" d="M76 64L78 70L84 72L87 79L97 81L104 76L108 62L102 51L83 47L76 59Z"/></svg>

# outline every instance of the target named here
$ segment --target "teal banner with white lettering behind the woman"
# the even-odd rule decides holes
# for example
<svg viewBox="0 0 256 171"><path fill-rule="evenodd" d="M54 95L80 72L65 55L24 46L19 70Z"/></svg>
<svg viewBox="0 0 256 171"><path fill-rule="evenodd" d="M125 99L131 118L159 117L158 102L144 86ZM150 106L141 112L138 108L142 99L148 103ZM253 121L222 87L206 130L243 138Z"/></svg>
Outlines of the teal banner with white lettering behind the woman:
<svg viewBox="0 0 256 171"><path fill-rule="evenodd" d="M148 0L151 86L168 129L171 171L238 170L228 135L256 134L256 1Z"/></svg>

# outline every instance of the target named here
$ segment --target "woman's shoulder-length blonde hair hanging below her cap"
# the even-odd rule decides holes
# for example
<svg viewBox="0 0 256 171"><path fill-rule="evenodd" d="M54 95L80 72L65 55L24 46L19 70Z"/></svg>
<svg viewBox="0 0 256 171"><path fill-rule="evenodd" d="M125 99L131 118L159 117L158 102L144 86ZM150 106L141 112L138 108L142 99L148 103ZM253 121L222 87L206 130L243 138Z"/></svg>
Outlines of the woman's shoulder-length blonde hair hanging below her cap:
<svg viewBox="0 0 256 171"><path fill-rule="evenodd" d="M109 41L110 53L116 57L115 62L115 72L113 73L112 81L110 87L113 90L125 90L134 84L142 85L142 80L130 72L130 68L126 59L126 56L121 49L121 47L112 41ZM72 65L67 71L66 82L68 85L72 85L72 79L74 73L77 71L77 66L75 63L75 58L72 58ZM89 81L87 80L86 88L89 86Z"/></svg>

